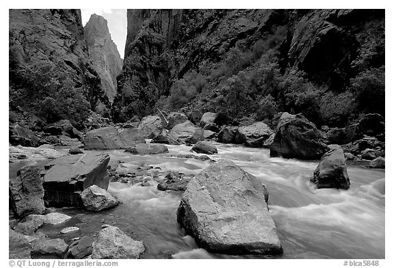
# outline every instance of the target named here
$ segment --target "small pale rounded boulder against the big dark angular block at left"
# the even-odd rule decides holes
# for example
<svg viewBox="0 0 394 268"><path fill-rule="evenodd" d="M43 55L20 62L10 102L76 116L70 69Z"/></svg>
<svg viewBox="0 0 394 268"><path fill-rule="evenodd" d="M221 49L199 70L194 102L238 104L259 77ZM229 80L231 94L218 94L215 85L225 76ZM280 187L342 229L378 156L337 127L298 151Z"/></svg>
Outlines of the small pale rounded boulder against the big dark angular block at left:
<svg viewBox="0 0 394 268"><path fill-rule="evenodd" d="M118 200L105 189L91 185L81 193L81 199L85 209L89 211L102 211L118 205Z"/></svg>

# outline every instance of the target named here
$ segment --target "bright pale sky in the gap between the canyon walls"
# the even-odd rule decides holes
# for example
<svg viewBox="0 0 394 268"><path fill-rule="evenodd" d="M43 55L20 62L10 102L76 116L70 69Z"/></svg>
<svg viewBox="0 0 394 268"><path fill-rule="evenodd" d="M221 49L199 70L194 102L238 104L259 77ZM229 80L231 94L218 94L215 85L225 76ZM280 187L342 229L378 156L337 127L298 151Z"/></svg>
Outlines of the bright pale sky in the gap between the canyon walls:
<svg viewBox="0 0 394 268"><path fill-rule="evenodd" d="M109 34L111 34L111 39L118 47L118 51L122 59L124 59L124 45L126 44L127 35L126 11L127 10L110 9L81 10L83 27L88 23L90 15L92 14L103 16L107 20Z"/></svg>

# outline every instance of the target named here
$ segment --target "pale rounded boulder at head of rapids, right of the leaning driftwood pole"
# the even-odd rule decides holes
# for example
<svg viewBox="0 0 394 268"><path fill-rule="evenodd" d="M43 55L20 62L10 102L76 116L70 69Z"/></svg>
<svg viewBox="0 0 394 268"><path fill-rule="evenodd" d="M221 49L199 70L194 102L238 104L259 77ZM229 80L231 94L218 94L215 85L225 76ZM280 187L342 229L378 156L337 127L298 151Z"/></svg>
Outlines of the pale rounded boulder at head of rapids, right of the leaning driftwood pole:
<svg viewBox="0 0 394 268"><path fill-rule="evenodd" d="M204 131L192 124L190 121L176 124L170 131L175 139L181 139L186 144L195 144L204 140Z"/></svg>

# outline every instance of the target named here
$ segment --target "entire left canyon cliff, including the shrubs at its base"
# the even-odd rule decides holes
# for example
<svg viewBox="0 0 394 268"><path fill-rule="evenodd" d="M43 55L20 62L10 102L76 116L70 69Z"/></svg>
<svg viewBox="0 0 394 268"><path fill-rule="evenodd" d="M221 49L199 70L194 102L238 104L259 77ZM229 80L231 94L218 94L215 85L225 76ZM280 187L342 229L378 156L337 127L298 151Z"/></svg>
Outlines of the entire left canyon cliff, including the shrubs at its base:
<svg viewBox="0 0 394 268"><path fill-rule="evenodd" d="M109 100L88 56L80 10L10 10L10 109L81 124Z"/></svg>

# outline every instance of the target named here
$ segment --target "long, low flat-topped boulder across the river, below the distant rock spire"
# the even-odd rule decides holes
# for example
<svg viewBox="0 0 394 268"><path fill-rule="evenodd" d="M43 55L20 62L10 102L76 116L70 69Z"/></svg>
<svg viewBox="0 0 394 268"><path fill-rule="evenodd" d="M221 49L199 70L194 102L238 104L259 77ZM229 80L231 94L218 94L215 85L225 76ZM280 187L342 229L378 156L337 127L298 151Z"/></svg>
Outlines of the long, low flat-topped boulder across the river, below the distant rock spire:
<svg viewBox="0 0 394 268"><path fill-rule="evenodd" d="M86 133L83 139L85 150L124 149L133 144L144 144L145 139L138 129L117 129L107 126Z"/></svg>

